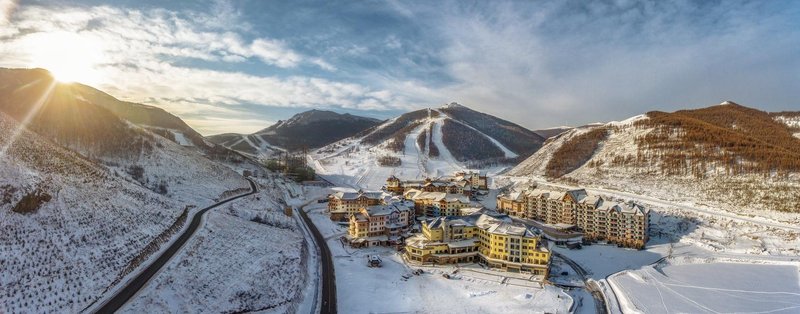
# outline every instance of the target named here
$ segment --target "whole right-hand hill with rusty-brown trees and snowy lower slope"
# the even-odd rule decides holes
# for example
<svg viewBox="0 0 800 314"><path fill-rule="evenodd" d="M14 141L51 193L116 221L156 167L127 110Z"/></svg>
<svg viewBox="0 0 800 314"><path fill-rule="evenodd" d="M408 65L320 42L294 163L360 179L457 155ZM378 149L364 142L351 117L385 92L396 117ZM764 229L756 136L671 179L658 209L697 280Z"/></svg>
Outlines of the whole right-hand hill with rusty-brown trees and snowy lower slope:
<svg viewBox="0 0 800 314"><path fill-rule="evenodd" d="M732 102L649 112L550 138L508 174L748 214L797 211L800 139L780 117Z"/></svg>

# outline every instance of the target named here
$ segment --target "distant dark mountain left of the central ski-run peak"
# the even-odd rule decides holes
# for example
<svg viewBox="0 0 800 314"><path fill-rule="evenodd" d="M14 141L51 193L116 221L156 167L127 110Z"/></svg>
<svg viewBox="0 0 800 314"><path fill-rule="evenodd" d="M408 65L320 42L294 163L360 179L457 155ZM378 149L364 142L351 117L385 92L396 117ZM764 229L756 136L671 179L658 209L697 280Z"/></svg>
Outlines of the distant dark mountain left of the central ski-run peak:
<svg viewBox="0 0 800 314"><path fill-rule="evenodd" d="M378 123L379 120L372 118L314 109L278 121L253 134L226 133L208 139L247 155L269 155L275 151L319 148Z"/></svg>

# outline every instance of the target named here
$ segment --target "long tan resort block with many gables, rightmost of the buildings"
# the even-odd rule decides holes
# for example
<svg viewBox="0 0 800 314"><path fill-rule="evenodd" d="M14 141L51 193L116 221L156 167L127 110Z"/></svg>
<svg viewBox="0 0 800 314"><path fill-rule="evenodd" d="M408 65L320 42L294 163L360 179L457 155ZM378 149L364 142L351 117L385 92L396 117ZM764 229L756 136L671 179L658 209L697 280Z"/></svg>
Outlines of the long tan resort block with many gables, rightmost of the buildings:
<svg viewBox="0 0 800 314"><path fill-rule="evenodd" d="M556 192L539 188L497 197L497 209L511 216L551 225L575 226L587 240L644 248L650 210L633 202L606 200L585 189Z"/></svg>

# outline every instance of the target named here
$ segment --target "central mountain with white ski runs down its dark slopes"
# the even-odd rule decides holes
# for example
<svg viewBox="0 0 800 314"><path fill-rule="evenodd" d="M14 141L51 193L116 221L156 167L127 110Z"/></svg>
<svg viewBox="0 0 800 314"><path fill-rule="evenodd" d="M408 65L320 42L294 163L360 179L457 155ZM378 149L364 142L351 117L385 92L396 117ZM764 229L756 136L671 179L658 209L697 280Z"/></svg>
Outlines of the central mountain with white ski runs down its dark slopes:
<svg viewBox="0 0 800 314"><path fill-rule="evenodd" d="M380 188L390 175L414 179L454 171L500 172L544 138L457 103L403 114L315 151L317 173L353 187Z"/></svg>

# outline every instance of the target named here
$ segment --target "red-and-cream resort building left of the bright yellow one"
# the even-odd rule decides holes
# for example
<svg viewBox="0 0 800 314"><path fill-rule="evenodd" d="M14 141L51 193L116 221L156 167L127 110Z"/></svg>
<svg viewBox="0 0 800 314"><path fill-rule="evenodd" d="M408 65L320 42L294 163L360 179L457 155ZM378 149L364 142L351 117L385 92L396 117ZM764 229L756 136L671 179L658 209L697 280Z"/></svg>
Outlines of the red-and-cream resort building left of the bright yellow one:
<svg viewBox="0 0 800 314"><path fill-rule="evenodd" d="M413 224L409 202L362 207L350 215L348 238L355 247L401 245Z"/></svg>

